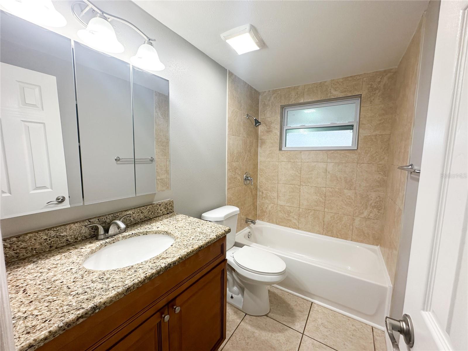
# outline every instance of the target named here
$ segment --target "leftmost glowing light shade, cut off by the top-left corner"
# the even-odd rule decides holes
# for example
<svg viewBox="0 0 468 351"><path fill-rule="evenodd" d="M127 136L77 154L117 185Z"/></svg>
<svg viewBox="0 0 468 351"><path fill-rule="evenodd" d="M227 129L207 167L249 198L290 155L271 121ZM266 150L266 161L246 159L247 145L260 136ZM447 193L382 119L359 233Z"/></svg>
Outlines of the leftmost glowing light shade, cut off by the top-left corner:
<svg viewBox="0 0 468 351"><path fill-rule="evenodd" d="M66 19L52 0L0 0L0 5L13 15L46 27L65 27Z"/></svg>

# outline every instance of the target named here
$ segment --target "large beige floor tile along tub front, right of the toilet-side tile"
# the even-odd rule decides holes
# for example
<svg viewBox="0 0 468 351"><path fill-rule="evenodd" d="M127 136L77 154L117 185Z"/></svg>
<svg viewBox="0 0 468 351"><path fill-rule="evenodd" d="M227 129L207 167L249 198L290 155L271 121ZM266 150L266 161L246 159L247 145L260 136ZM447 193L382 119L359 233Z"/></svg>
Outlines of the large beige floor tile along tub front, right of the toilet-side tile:
<svg viewBox="0 0 468 351"><path fill-rule="evenodd" d="M372 327L312 304L304 334L336 350L373 351Z"/></svg>

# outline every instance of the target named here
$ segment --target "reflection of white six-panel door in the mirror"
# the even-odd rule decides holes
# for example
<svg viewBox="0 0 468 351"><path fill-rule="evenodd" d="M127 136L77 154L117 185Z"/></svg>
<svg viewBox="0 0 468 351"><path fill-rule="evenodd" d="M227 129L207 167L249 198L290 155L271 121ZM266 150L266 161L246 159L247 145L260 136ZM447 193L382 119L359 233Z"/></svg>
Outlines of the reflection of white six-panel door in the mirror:
<svg viewBox="0 0 468 351"><path fill-rule="evenodd" d="M70 207L56 78L1 63L0 86L1 218Z"/></svg>

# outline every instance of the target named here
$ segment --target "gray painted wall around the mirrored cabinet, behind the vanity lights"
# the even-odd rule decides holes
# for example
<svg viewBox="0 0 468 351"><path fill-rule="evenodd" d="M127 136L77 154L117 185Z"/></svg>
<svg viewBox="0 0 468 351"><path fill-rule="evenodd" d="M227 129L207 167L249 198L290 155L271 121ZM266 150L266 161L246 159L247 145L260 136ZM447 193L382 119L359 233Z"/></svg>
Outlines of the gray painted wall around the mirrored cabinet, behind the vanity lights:
<svg viewBox="0 0 468 351"><path fill-rule="evenodd" d="M72 1L55 3L67 20L59 34L80 41L80 24L70 12ZM104 11L133 22L150 37L166 69L158 73L170 85L171 190L99 204L77 206L1 221L2 236L26 233L103 213L174 199L176 212L200 217L226 205L227 70L131 1L96 1ZM129 61L143 39L122 23L115 24L125 47L118 59Z"/></svg>

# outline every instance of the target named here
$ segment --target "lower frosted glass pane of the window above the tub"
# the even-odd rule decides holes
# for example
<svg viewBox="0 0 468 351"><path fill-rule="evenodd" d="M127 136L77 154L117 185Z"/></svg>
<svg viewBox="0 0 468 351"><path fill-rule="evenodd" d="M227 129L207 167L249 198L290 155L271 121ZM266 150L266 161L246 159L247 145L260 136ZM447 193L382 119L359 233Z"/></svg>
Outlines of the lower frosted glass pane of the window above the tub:
<svg viewBox="0 0 468 351"><path fill-rule="evenodd" d="M351 146L353 125L286 130L286 147Z"/></svg>

